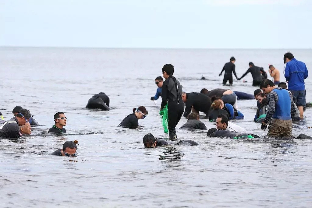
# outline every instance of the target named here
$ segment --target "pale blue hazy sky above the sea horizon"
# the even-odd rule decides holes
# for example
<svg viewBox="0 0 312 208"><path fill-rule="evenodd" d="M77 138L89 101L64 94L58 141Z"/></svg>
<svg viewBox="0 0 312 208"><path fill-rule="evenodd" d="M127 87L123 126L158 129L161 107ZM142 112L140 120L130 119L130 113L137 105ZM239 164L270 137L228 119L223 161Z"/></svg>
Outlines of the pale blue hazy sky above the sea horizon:
<svg viewBox="0 0 312 208"><path fill-rule="evenodd" d="M0 46L312 48L311 0L0 0Z"/></svg>

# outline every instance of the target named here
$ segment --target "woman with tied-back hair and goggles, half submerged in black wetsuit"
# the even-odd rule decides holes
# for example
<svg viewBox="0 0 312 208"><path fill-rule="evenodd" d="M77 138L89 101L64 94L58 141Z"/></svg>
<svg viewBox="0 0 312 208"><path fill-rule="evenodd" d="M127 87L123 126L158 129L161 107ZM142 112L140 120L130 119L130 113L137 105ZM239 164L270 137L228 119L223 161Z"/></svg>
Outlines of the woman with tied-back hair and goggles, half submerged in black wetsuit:
<svg viewBox="0 0 312 208"><path fill-rule="evenodd" d="M119 126L127 128L137 128L139 126L139 119L144 119L149 112L144 106L132 109L133 114L127 115Z"/></svg>

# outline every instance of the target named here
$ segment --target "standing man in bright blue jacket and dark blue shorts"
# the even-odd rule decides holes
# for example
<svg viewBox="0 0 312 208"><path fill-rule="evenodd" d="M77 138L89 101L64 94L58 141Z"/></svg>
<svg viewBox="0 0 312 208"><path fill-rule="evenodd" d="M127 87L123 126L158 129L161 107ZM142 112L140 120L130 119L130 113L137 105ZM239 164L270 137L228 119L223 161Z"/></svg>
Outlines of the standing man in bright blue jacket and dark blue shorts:
<svg viewBox="0 0 312 208"><path fill-rule="evenodd" d="M297 99L296 105L303 119L303 106L305 106L305 79L308 77L308 69L302 61L295 59L290 52L284 55L284 76L288 82L288 90Z"/></svg>

